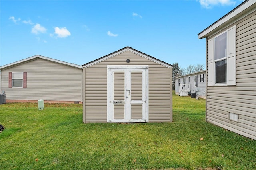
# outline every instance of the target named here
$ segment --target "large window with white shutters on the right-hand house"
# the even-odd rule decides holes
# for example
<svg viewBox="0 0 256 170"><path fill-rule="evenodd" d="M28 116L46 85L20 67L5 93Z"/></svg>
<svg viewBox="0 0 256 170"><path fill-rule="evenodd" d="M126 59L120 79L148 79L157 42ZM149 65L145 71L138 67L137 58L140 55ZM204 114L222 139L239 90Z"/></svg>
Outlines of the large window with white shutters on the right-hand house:
<svg viewBox="0 0 256 170"><path fill-rule="evenodd" d="M236 25L208 40L207 85L236 85Z"/></svg>

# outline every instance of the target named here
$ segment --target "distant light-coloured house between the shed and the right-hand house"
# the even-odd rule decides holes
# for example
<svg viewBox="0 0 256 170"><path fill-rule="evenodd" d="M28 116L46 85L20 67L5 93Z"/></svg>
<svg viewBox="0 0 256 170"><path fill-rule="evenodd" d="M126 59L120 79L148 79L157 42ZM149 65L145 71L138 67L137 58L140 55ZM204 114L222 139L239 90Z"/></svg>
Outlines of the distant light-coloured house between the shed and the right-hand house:
<svg viewBox="0 0 256 170"><path fill-rule="evenodd" d="M179 96L188 96L192 94L192 97L196 94L199 98L205 99L206 70L186 74L175 78L175 94Z"/></svg>

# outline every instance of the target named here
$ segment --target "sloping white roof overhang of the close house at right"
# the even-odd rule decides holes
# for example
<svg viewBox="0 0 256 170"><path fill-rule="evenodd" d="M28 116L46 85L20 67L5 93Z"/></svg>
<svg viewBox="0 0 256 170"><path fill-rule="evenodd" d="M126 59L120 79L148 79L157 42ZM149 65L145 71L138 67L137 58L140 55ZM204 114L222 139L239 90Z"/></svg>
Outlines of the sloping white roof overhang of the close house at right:
<svg viewBox="0 0 256 170"><path fill-rule="evenodd" d="M213 31L214 29L218 28L220 25L226 23L230 19L234 18L250 6L254 5L256 3L256 0L248 0L244 4L242 4L240 7L238 7L236 10L225 16L224 18L220 19L219 21L216 21L216 23L212 24L210 27L206 28L204 31L198 34L198 39L205 38L208 33Z"/></svg>

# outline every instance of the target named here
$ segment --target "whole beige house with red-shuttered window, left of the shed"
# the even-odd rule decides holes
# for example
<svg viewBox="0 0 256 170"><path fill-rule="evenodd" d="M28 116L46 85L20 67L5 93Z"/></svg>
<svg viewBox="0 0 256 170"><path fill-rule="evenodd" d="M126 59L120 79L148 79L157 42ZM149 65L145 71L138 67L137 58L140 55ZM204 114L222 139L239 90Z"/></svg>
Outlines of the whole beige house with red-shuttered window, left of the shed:
<svg viewBox="0 0 256 170"><path fill-rule="evenodd" d="M82 66L35 55L0 70L7 102L82 103Z"/></svg>

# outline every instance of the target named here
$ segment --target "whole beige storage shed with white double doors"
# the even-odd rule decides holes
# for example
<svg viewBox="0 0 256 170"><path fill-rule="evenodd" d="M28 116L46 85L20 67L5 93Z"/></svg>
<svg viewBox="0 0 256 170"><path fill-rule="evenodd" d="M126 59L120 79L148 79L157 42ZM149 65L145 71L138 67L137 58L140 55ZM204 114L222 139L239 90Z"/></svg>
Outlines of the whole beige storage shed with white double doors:
<svg viewBox="0 0 256 170"><path fill-rule="evenodd" d="M83 122L172 122L172 65L125 47L83 67Z"/></svg>

